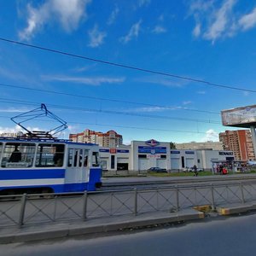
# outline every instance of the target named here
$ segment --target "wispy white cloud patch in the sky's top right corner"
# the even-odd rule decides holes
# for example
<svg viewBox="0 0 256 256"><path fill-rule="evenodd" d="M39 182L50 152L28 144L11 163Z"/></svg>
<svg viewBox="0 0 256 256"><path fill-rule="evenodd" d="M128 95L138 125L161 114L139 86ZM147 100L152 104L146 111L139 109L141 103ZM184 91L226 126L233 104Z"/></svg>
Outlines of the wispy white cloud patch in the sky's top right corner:
<svg viewBox="0 0 256 256"><path fill-rule="evenodd" d="M220 38L230 38L256 27L256 7L249 13L242 14L235 9L237 2L238 0L192 0L189 15L195 19L193 36L214 43Z"/></svg>

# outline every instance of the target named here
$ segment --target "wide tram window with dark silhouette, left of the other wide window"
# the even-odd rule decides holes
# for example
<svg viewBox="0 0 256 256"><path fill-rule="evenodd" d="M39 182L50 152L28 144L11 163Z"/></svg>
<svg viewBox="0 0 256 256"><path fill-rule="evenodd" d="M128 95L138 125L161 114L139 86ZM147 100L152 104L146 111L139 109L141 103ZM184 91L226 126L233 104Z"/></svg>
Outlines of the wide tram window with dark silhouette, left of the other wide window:
<svg viewBox="0 0 256 256"><path fill-rule="evenodd" d="M36 146L33 143L6 143L3 148L2 167L31 167Z"/></svg>

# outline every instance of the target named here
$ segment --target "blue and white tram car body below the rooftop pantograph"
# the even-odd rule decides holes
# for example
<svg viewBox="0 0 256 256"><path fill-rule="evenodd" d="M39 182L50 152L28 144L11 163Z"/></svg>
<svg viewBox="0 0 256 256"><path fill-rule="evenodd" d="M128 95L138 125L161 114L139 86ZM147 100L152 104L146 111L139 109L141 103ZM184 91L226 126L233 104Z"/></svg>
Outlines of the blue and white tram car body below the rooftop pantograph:
<svg viewBox="0 0 256 256"><path fill-rule="evenodd" d="M99 148L65 140L0 138L0 195L93 191Z"/></svg>

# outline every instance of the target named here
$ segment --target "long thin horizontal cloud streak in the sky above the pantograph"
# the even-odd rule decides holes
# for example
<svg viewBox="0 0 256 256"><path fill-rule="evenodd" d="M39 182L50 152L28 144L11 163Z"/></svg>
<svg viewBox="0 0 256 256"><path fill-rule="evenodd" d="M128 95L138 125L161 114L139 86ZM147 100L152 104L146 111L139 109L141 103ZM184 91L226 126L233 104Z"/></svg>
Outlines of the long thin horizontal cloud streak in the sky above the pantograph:
<svg viewBox="0 0 256 256"><path fill-rule="evenodd" d="M101 85L101 84L120 84L125 81L124 77L120 78L108 78L108 77L96 77L96 78L89 78L89 77L70 77L70 76L63 76L63 75L56 75L56 76L42 76L42 79L48 81L60 81L60 82L71 82L77 84L89 84L89 85Z"/></svg>

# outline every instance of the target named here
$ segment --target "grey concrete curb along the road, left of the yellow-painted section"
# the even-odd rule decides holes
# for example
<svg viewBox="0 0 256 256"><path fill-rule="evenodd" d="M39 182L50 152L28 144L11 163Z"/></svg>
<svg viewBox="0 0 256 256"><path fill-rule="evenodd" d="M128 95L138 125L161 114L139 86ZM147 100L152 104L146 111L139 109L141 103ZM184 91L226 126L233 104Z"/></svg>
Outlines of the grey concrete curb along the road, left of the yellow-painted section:
<svg viewBox="0 0 256 256"><path fill-rule="evenodd" d="M102 224L90 224L90 221L88 221L88 223L77 222L74 224L55 224L55 230L49 230L49 227L52 228L53 224L48 224L44 227L42 226L41 229L40 226L38 226L38 230L33 231L26 228L21 230L16 229L12 231L13 234L0 235L0 244L107 233L119 230L150 227L157 224L177 223L205 217L203 212L198 212L191 209L177 213L159 212L158 215L162 215L160 217L157 217L156 214L147 215L148 214L130 218L126 217L118 221L116 221L116 218L108 218L108 220L103 219ZM106 224L107 222L111 221L112 223Z"/></svg>

